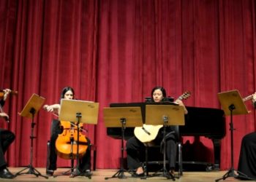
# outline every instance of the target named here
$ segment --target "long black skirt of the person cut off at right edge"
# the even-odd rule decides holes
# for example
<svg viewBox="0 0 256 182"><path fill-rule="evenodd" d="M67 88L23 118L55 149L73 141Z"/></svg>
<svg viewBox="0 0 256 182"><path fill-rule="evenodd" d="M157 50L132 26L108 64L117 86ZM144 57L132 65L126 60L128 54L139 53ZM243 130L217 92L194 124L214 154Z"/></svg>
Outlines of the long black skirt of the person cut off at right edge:
<svg viewBox="0 0 256 182"><path fill-rule="evenodd" d="M238 162L239 178L256 180L256 132L244 135Z"/></svg>

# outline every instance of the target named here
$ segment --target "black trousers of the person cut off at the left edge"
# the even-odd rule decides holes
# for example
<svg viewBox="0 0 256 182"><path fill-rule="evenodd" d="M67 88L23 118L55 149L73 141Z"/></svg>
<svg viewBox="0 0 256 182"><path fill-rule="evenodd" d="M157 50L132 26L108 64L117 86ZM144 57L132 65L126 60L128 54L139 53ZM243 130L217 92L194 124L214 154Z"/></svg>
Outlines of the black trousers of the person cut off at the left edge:
<svg viewBox="0 0 256 182"><path fill-rule="evenodd" d="M7 166L4 154L14 140L15 135L13 132L0 128L0 168Z"/></svg>

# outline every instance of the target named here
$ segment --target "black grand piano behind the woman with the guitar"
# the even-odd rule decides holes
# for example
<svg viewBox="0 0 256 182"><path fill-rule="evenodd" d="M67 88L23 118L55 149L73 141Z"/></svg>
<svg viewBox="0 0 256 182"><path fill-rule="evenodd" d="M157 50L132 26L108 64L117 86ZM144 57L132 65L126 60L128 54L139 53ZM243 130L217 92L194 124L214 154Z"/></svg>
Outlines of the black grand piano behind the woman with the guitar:
<svg viewBox="0 0 256 182"><path fill-rule="evenodd" d="M140 106L143 122L145 121L145 106L151 103L111 103L110 107ZM162 103L168 104L168 103ZM214 164L209 170L219 170L220 165L220 141L226 135L224 111L217 108L201 108L186 106L189 114L185 117L185 125L179 126L180 136L205 136L210 138L214 146ZM121 128L108 127L107 135L121 139ZM124 140L134 135L134 128L127 127L124 130ZM185 154L184 154L185 155ZM192 162L196 163L196 162Z"/></svg>

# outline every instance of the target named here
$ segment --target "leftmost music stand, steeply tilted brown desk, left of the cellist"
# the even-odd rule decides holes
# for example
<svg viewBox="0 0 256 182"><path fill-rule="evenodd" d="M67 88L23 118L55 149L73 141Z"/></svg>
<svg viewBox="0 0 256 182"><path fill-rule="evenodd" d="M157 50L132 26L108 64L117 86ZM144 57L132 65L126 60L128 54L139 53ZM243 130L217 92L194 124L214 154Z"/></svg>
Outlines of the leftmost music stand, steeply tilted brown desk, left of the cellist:
<svg viewBox="0 0 256 182"><path fill-rule="evenodd" d="M42 176L44 178L48 178L48 176L42 175L39 173L37 169L33 167L33 140L34 138L37 138L34 136L34 116L37 114L37 111L42 107L42 104L45 102L45 98L40 97L37 94L33 94L31 98L29 99L28 103L26 103L26 106L23 108L23 110L18 113L20 116L27 117L31 119L31 135L30 135L30 163L27 167L25 167L23 170L20 170L17 175L23 175L23 174L32 174L38 176ZM29 169L28 172L22 173L24 170Z"/></svg>

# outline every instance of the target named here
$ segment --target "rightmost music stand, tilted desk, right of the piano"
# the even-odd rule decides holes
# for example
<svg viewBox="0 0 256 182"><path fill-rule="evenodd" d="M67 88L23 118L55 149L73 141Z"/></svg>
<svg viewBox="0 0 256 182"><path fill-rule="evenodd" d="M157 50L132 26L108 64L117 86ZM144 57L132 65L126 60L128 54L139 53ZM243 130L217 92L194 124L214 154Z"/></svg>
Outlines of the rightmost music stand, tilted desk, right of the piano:
<svg viewBox="0 0 256 182"><path fill-rule="evenodd" d="M219 180L225 180L228 177L234 177L237 178L238 175L235 174L238 173L239 175L244 175L246 178L246 175L244 173L239 172L238 170L234 169L234 162L233 162L233 115L238 114L248 114L249 111L247 111L247 108L244 104L243 99L241 98L240 93L238 90L230 90L227 92L219 92L218 93L219 102L222 105L222 108L225 112L226 116L230 116L230 138L231 138L231 167L230 170L225 173L225 175L222 176L222 178L218 178L215 180L218 182Z"/></svg>

